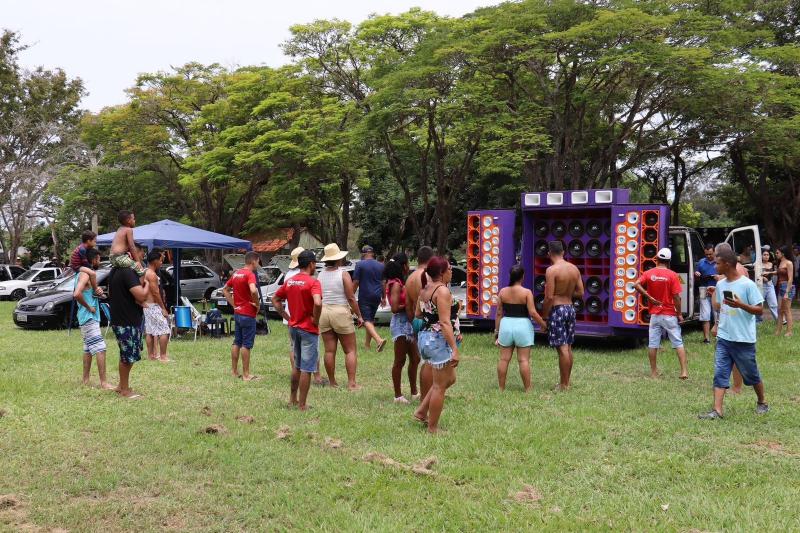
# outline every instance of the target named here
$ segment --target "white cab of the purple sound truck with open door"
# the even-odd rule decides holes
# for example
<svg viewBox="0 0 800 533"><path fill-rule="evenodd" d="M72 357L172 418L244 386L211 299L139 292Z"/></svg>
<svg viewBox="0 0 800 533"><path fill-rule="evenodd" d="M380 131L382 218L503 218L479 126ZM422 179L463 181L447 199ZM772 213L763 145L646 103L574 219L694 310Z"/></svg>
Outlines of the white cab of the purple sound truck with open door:
<svg viewBox="0 0 800 533"><path fill-rule="evenodd" d="M761 262L761 235L758 226L744 226L731 231L725 238L733 251L740 257L741 263L759 289L762 289L761 274L764 266ZM683 293L681 307L687 320L697 320L700 312L695 269L697 262L703 258L703 239L692 228L670 226L669 248L672 250L670 268L681 278ZM712 243L718 244L718 243Z"/></svg>

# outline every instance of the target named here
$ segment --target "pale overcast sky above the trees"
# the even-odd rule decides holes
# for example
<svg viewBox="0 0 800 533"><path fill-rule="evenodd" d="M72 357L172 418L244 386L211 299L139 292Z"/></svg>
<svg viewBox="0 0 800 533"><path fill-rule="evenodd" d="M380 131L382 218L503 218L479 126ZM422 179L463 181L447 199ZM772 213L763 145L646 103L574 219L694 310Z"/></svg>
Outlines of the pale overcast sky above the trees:
<svg viewBox="0 0 800 533"><path fill-rule="evenodd" d="M17 31L29 49L24 67L61 68L83 80L82 107L125 102L143 72L190 61L279 66L293 24L421 7L458 17L497 0L0 0L0 28Z"/></svg>

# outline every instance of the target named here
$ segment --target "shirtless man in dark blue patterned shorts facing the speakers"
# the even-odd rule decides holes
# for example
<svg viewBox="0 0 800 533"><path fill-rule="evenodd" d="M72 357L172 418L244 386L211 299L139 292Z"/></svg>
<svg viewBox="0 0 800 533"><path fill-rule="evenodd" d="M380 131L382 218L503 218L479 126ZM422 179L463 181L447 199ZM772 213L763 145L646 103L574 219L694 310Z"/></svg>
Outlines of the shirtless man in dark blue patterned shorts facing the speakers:
<svg viewBox="0 0 800 533"><path fill-rule="evenodd" d="M556 390L569 389L572 374L572 343L575 342L575 308L572 298L583 296L583 279L578 267L564 260L564 243L548 244L552 265L545 272L542 318L547 321L550 346L558 351L561 381Z"/></svg>

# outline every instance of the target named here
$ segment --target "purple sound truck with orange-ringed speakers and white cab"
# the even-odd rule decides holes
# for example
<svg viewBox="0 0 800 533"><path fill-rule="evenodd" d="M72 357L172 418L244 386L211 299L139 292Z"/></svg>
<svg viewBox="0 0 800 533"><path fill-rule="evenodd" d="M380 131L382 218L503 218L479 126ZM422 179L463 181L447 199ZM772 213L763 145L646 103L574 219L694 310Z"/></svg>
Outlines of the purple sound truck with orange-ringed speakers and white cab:
<svg viewBox="0 0 800 533"><path fill-rule="evenodd" d="M647 334L647 307L633 285L656 265L659 249L672 250L671 268L683 286L687 320L698 313L695 267L703 241L693 229L670 226L669 207L632 204L628 189L530 192L522 195L521 213L479 210L467 215L467 317L494 320L497 294L508 284L517 262L525 267L526 287L537 308L544 300L547 243L561 240L565 259L580 269L585 292L573 301L576 333L582 336ZM521 217L521 218L518 218ZM521 232L521 237L519 236ZM761 285L761 238L757 226L733 230L726 241Z"/></svg>

